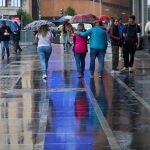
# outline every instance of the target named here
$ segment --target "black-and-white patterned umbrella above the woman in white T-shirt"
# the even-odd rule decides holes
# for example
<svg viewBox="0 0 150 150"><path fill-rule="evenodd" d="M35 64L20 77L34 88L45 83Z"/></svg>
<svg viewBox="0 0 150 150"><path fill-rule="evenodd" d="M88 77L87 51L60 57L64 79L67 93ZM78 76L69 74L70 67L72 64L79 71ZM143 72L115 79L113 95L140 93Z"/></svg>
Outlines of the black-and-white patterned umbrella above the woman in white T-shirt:
<svg viewBox="0 0 150 150"><path fill-rule="evenodd" d="M36 21L33 21L33 22L27 24L24 27L24 30L37 31L40 28L40 26L42 26L42 25L48 25L50 28L55 27L55 24L52 23L51 21L48 21L48 20L36 20Z"/></svg>

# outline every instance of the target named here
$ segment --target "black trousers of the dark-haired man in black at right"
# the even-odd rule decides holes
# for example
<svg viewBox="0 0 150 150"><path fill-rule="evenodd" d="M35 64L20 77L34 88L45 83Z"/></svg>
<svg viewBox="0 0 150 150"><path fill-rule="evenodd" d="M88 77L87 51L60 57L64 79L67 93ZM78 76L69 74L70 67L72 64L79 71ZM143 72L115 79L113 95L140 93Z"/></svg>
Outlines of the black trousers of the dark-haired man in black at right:
<svg viewBox="0 0 150 150"><path fill-rule="evenodd" d="M123 58L124 58L124 67L133 67L134 55L136 51L136 43L128 41L124 43L123 49Z"/></svg>

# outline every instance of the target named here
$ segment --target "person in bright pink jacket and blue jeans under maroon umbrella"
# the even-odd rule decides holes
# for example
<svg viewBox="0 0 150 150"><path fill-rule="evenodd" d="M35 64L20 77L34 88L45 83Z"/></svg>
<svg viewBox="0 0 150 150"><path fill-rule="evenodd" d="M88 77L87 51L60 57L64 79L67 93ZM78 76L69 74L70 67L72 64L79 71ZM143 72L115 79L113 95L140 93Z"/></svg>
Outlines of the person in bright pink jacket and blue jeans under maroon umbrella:
<svg viewBox="0 0 150 150"><path fill-rule="evenodd" d="M79 23L77 26L77 32L84 32L84 24ZM87 37L81 37L77 33L73 34L73 43L74 43L74 57L76 60L76 66L78 71L78 78L84 76L85 70L85 57L87 52Z"/></svg>

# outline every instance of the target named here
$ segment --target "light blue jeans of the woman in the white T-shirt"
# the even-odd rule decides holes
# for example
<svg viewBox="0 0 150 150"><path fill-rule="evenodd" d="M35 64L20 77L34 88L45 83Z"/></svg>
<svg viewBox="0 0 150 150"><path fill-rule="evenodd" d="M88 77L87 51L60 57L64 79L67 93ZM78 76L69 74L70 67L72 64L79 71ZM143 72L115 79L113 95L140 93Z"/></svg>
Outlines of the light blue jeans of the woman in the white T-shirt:
<svg viewBox="0 0 150 150"><path fill-rule="evenodd" d="M42 73L46 74L47 68L48 68L48 60L49 60L49 57L52 52L52 47L51 46L40 46L37 48L37 51L38 51L38 55L40 57Z"/></svg>

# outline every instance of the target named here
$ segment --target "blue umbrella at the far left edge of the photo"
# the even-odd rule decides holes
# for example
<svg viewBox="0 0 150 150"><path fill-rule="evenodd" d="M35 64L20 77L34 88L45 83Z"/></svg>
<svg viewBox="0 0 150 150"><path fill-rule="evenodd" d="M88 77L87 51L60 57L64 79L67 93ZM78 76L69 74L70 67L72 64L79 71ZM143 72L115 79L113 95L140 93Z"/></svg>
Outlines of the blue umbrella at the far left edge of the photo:
<svg viewBox="0 0 150 150"><path fill-rule="evenodd" d="M0 27L2 26L2 21L5 21L6 25L9 26L12 31L18 30L17 24L10 19L0 19Z"/></svg>

